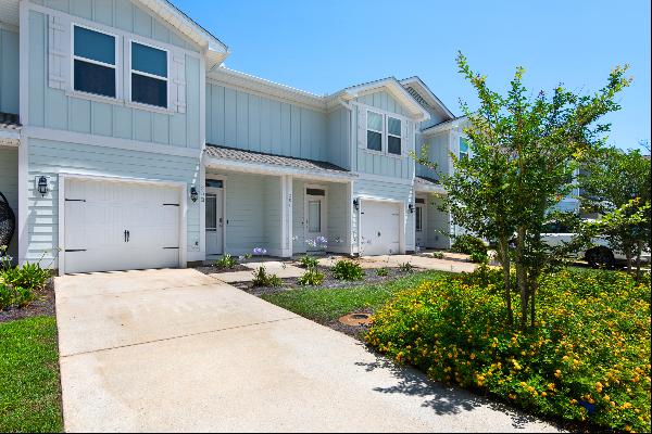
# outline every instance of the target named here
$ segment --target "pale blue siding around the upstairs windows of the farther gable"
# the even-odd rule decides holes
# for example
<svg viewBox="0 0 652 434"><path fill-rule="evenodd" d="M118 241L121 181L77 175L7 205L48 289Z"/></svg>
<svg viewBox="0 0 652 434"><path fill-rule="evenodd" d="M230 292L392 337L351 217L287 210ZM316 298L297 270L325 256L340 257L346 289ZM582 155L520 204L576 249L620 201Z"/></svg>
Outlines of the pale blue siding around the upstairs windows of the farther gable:
<svg viewBox="0 0 652 434"><path fill-rule="evenodd" d="M366 104L372 107L380 108L386 112L396 113L400 116L408 117L405 110L394 100L387 91L378 91L355 99L361 104ZM380 154L371 152L358 146L358 111L353 111L355 119L353 126L353 162L351 169L363 174L379 175L388 178L411 179L414 176L414 161L409 155L389 156L386 153ZM366 126L364 126L366 131ZM384 143L387 146L387 143Z"/></svg>

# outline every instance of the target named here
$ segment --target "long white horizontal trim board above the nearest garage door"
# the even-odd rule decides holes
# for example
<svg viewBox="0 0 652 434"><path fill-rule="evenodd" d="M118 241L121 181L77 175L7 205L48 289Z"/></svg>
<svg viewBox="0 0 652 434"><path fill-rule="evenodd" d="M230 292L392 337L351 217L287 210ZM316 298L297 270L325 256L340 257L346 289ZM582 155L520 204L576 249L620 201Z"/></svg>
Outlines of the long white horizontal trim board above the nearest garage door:
<svg viewBox="0 0 652 434"><path fill-rule="evenodd" d="M199 158L201 156L201 150L198 149L188 149L167 144L141 142L129 139L117 139L114 137L100 137L93 135L86 135L83 132L73 132L40 127L23 127L23 135L33 139L80 143L93 146L113 148L138 152L151 152L189 158Z"/></svg>

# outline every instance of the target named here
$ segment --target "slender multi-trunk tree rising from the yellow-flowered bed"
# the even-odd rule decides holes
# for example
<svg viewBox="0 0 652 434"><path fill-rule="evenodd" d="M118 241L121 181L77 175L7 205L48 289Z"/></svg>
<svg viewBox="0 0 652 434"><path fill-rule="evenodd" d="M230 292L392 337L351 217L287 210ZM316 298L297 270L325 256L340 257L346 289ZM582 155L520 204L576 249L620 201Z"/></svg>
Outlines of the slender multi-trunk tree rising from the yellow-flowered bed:
<svg viewBox="0 0 652 434"><path fill-rule="evenodd" d="M535 326L538 278L566 248L551 248L541 241L543 225L550 219L550 209L570 193L579 163L609 130L609 125L597 122L619 108L614 97L629 85L624 78L627 67L612 71L607 85L592 95L578 95L559 86L550 95L540 91L529 98L522 67L502 95L489 89L486 77L474 73L462 53L457 66L475 88L480 106L472 112L462 103L469 124L464 132L471 155L451 155L453 174L440 174L448 192L444 206L456 225L498 242L507 319L513 317L510 269L514 264L521 324L527 324L529 307ZM427 164L423 157L419 163ZM511 256L509 241L513 237Z"/></svg>

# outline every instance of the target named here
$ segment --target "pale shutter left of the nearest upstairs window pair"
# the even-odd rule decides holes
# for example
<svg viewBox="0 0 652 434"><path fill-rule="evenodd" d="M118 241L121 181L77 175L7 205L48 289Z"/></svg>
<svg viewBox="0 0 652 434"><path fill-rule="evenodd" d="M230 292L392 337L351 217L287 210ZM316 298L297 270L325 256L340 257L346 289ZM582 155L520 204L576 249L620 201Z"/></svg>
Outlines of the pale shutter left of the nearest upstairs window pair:
<svg viewBox="0 0 652 434"><path fill-rule="evenodd" d="M48 17L48 86L68 89L71 77L71 22L63 16Z"/></svg>

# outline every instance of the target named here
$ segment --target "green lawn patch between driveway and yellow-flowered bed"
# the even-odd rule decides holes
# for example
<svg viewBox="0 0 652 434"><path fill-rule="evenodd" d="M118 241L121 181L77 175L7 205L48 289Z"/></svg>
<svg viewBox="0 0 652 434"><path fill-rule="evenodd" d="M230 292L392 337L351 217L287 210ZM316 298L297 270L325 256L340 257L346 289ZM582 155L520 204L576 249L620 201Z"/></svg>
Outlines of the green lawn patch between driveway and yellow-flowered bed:
<svg viewBox="0 0 652 434"><path fill-rule="evenodd" d="M375 310L397 292L446 276L449 273L444 271L423 271L385 283L352 288L299 289L265 294L262 298L313 321L328 322L352 311Z"/></svg>

